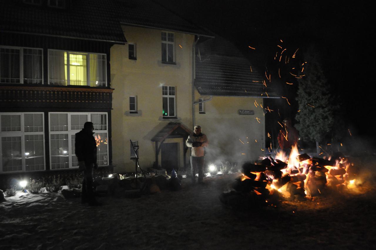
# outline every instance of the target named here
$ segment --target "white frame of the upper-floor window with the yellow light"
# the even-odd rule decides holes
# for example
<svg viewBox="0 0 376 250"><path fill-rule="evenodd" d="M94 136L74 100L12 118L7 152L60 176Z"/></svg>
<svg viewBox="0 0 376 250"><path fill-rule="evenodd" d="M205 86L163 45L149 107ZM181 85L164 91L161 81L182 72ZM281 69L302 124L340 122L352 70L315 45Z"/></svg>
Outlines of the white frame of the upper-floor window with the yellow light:
<svg viewBox="0 0 376 250"><path fill-rule="evenodd" d="M104 55L105 58L106 58L106 63L105 63L105 81L106 81L106 84L105 86L100 86L100 87L107 87L107 55L105 53L89 53L89 52L82 52L82 51L73 51L73 50L61 50L61 49L48 49L47 51L47 61L48 61L48 73L47 73L47 79L48 79L48 84L50 85L50 51L63 51L63 52L67 52L67 86L70 86L70 72L69 72L69 67L68 65L70 65L70 62L69 62L69 53L79 53L79 54L86 54L86 86L90 86L90 55ZM65 85L62 85L62 86L65 86ZM77 86L77 85L72 85L72 86Z"/></svg>

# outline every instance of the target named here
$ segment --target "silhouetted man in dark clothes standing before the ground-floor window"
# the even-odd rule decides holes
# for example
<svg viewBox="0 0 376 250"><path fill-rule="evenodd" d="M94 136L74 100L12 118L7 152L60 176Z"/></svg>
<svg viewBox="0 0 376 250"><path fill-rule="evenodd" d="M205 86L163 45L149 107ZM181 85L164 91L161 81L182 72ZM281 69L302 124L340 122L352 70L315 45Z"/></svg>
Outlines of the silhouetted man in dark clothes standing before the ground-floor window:
<svg viewBox="0 0 376 250"><path fill-rule="evenodd" d="M94 198L93 191L93 168L97 169L97 143L93 136L93 123L85 122L83 129L76 133L74 152L76 153L79 170L83 171L82 181L82 203L89 203L91 206L99 205Z"/></svg>

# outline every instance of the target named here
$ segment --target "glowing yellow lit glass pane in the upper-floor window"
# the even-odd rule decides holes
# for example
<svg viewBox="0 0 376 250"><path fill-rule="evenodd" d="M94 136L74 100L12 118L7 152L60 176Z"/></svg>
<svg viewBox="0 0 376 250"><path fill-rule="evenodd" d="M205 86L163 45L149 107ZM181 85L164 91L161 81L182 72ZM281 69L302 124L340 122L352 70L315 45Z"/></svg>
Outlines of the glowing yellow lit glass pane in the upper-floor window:
<svg viewBox="0 0 376 250"><path fill-rule="evenodd" d="M94 68L96 68L96 61L92 61L94 61ZM70 85L88 85L86 54L69 52L69 80Z"/></svg>

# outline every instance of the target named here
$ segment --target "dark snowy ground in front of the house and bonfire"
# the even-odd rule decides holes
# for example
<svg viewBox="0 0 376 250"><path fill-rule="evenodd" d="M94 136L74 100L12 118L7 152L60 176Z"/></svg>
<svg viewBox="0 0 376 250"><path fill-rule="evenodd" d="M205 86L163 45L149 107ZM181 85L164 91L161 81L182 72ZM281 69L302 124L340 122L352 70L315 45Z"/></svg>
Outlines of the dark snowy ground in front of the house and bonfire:
<svg viewBox="0 0 376 250"><path fill-rule="evenodd" d="M56 193L0 203L0 249L369 249L376 244L370 181L306 201L234 210L218 199L239 174L183 179L182 190L99 198L100 207ZM21 196L21 197L20 197Z"/></svg>

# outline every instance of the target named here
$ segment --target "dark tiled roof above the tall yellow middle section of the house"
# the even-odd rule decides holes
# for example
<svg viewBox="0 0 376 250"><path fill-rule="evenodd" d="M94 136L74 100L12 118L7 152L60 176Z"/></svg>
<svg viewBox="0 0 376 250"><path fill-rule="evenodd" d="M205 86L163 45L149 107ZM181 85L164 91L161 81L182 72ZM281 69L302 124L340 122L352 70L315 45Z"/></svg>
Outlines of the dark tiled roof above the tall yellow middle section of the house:
<svg viewBox="0 0 376 250"><path fill-rule="evenodd" d="M122 24L211 36L208 30L197 27L152 0L115 0L113 4Z"/></svg>

